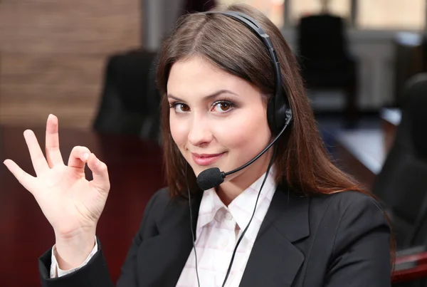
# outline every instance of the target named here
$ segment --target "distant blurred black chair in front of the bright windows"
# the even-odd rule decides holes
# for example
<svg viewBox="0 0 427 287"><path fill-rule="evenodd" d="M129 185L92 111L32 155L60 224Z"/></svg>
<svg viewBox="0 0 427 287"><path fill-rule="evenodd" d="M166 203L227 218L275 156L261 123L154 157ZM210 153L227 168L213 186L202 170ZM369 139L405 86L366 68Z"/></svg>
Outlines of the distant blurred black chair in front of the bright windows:
<svg viewBox="0 0 427 287"><path fill-rule="evenodd" d="M331 14L302 17L298 26L298 58L309 90L342 90L345 118L354 125L357 108L357 65L348 51L344 21Z"/></svg>

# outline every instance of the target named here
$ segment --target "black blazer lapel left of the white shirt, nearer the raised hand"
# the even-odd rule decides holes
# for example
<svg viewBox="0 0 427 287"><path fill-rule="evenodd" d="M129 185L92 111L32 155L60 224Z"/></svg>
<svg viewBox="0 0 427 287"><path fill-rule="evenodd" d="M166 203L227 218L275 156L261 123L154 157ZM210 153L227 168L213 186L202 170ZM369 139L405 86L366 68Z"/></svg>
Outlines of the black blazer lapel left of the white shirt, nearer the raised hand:
<svg viewBox="0 0 427 287"><path fill-rule="evenodd" d="M191 199L194 232L200 202L199 196ZM188 201L178 199L169 204L157 228L159 234L142 241L138 250L139 286L174 287L193 248Z"/></svg>

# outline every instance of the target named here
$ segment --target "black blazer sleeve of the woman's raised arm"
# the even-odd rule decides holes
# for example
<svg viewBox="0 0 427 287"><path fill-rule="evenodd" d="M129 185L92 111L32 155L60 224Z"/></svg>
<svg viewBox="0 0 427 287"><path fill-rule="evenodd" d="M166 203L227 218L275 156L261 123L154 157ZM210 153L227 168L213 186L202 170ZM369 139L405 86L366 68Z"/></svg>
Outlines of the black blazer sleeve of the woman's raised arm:
<svg viewBox="0 0 427 287"><path fill-rule="evenodd" d="M137 287L137 263L136 254L139 248L139 244L142 242L142 232L147 227L147 221L150 216L150 211L154 206L157 195L154 196L147 203L147 207L144 210L144 216L142 218L141 226L139 231L132 240L132 245L128 251L125 263L122 265L122 271L120 278L117 281L117 287ZM114 283L110 278L110 272L107 268L107 262L105 261L104 254L102 252L102 246L100 241L97 241L98 251L92 259L73 273L67 274L60 278L50 278L49 269L51 267L51 253L52 249L46 251L38 259L38 271L41 278L42 287L114 287Z"/></svg>

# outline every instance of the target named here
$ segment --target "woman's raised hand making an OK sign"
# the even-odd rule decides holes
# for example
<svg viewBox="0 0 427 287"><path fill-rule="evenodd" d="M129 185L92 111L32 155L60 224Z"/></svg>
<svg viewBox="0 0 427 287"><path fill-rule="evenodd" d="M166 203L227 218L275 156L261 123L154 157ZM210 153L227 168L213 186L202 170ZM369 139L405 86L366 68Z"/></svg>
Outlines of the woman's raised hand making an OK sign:
<svg viewBox="0 0 427 287"><path fill-rule="evenodd" d="M59 149L58 118L54 115L49 115L46 124L46 158L34 132L26 130L23 135L36 177L12 160L5 160L4 164L36 198L55 231L57 243L60 239L72 241L87 234L94 236L110 190L107 166L87 147L74 147L68 165L64 165ZM93 172L91 181L85 179L86 163ZM94 244L95 236L92 240Z"/></svg>

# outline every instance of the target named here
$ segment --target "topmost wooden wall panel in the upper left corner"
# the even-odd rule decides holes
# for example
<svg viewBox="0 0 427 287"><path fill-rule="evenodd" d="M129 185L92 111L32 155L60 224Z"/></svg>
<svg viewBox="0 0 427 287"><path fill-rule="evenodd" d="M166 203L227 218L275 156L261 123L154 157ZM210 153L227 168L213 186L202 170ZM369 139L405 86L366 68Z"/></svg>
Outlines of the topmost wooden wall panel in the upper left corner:
<svg viewBox="0 0 427 287"><path fill-rule="evenodd" d="M105 53L138 46L139 1L30 1L0 4L0 49Z"/></svg>

